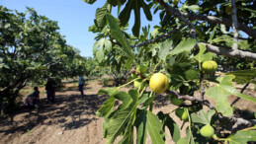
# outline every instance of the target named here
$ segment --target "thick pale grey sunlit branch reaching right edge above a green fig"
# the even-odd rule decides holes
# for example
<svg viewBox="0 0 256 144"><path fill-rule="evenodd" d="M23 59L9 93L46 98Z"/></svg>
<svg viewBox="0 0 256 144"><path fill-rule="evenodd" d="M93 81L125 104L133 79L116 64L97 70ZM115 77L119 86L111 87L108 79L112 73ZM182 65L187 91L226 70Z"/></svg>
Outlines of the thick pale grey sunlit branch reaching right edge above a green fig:
<svg viewBox="0 0 256 144"><path fill-rule="evenodd" d="M225 55L228 57L246 58L246 59L256 61L256 53L253 53L251 51L243 51L239 49L236 49L236 50L226 49L226 48L214 46L205 42L199 42L199 44L205 44L207 46L208 51L211 51L215 54Z"/></svg>

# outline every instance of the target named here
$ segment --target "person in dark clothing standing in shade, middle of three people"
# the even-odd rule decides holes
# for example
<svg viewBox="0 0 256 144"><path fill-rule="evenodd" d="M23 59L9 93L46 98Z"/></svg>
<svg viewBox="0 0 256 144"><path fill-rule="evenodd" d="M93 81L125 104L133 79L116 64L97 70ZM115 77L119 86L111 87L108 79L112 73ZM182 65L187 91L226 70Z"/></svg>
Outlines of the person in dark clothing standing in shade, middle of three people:
<svg viewBox="0 0 256 144"><path fill-rule="evenodd" d="M52 78L48 78L47 83L45 85L45 90L47 94L47 100L51 103L55 102L55 88L56 82Z"/></svg>

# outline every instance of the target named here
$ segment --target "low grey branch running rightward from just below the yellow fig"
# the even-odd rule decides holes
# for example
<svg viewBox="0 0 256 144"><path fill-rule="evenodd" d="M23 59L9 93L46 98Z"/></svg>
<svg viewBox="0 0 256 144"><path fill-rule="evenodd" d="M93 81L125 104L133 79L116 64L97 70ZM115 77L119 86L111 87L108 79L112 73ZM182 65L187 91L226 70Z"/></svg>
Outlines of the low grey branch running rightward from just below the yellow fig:
<svg viewBox="0 0 256 144"><path fill-rule="evenodd" d="M181 95L177 92L174 92L174 91L170 91L170 90L167 90L166 91L167 94L170 94L170 95L174 95L174 96L177 96L178 99L182 99L182 100L189 100L189 101L195 101L195 102L199 102L209 108L212 108L214 109L215 107L209 103L208 101L202 99L201 97L192 97L192 96L189 96L189 95ZM256 121L255 120L247 120L247 119L243 119L243 118L237 118L235 116L229 116L227 117L230 121L232 122L235 122L235 124L237 125L240 125L240 124L244 124L244 125L254 125L256 124Z"/></svg>

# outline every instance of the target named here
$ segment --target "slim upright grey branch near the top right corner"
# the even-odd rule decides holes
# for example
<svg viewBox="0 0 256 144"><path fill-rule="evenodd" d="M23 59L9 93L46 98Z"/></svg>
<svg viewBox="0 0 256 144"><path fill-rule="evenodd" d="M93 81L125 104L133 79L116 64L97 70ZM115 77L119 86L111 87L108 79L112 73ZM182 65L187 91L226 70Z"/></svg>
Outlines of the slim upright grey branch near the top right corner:
<svg viewBox="0 0 256 144"><path fill-rule="evenodd" d="M237 33L237 15L236 15L236 5L235 5L235 0L230 0L231 6L232 6L232 29L233 29L233 46L232 49L236 50L238 49L238 33Z"/></svg>

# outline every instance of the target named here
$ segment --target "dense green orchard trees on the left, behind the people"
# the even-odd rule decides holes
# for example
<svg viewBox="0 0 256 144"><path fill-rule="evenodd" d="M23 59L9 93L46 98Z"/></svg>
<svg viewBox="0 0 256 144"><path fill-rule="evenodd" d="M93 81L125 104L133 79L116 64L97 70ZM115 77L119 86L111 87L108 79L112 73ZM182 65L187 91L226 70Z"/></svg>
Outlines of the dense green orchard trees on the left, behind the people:
<svg viewBox="0 0 256 144"><path fill-rule="evenodd" d="M96 63L79 55L58 32L57 22L27 8L24 13L0 6L0 105L14 107L28 82L42 84L93 74ZM93 67L94 66L94 67Z"/></svg>

